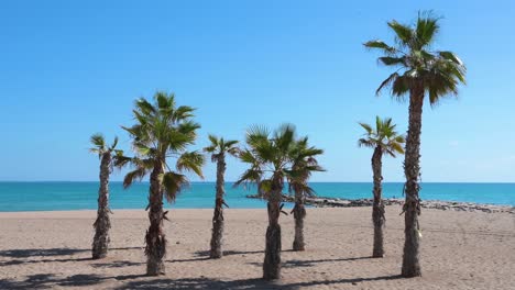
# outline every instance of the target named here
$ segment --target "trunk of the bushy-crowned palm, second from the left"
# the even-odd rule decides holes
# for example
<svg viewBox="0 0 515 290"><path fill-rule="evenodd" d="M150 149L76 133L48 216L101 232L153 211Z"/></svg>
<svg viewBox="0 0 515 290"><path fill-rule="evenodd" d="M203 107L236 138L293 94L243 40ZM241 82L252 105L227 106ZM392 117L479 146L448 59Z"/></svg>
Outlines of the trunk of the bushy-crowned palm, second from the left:
<svg viewBox="0 0 515 290"><path fill-rule="evenodd" d="M162 174L163 165L156 161L150 180L150 227L145 235L146 275L149 276L165 274L163 258L166 254L166 237L163 232L163 187L158 180Z"/></svg>

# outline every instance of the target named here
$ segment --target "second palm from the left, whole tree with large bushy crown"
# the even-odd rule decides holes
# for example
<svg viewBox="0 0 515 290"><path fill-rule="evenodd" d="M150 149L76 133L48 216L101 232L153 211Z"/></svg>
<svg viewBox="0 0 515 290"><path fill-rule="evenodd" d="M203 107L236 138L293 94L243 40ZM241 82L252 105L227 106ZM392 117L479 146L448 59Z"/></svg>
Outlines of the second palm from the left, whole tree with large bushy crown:
<svg viewBox="0 0 515 290"><path fill-rule="evenodd" d="M120 158L117 166L131 164L134 170L127 174L123 187L128 188L135 179L141 180L150 174L149 220L145 235L146 275L165 274L163 258L166 254L166 238L163 232L163 196L168 202L175 201L180 189L188 183L184 171L193 171L202 177L204 156L187 152L195 144L196 131L200 127L191 118L195 109L177 107L173 93L156 92L154 102L141 98L133 110L136 123L123 127L131 135L135 157ZM168 166L167 158L175 158L176 171Z"/></svg>

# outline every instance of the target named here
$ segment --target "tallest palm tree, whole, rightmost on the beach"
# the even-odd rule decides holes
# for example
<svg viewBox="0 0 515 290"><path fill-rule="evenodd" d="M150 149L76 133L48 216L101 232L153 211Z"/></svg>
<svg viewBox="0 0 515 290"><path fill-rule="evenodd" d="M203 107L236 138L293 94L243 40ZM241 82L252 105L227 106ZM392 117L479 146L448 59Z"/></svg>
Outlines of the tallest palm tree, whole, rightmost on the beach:
<svg viewBox="0 0 515 290"><path fill-rule="evenodd" d="M409 123L404 161L405 183L405 244L402 275L421 276L419 264L420 231L420 131L424 98L429 97L431 105L446 96L457 96L458 86L464 83L465 67L460 58L447 51L434 51L431 45L439 32L438 18L419 13L415 25L391 21L388 26L395 33L395 46L382 41L370 41L365 47L379 49L384 56L379 62L395 68L377 88L376 93L388 88L392 96L403 99L409 94Z"/></svg>

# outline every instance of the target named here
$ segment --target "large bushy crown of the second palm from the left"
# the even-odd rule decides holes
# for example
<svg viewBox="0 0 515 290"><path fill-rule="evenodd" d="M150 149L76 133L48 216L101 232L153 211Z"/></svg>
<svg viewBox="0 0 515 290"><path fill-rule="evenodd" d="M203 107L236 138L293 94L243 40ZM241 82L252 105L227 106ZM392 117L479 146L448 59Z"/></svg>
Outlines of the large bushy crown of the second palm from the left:
<svg viewBox="0 0 515 290"><path fill-rule="evenodd" d="M187 105L177 107L173 93L156 92L154 103L143 98L135 101L133 114L136 124L123 127L133 137L135 157L118 163L118 166L131 163L135 169L127 174L123 187L131 186L135 179L141 180L155 167L162 167L164 174L160 177L161 185L166 199L174 201L182 187L188 183L182 172L193 171L202 177L202 155L186 150L188 145L195 144L196 131L200 127L191 120L194 111ZM168 157L176 158L177 172L166 163Z"/></svg>

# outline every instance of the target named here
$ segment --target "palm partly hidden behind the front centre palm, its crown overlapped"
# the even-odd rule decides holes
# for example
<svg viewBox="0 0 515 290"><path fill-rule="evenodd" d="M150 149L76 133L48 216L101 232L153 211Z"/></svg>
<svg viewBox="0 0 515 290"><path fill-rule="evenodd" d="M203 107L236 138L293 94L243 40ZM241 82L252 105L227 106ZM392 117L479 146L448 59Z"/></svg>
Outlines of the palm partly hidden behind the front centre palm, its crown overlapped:
<svg viewBox="0 0 515 290"><path fill-rule="evenodd" d="M295 207L292 210L295 219L294 250L305 250L306 247L304 242L304 219L306 217L304 202L306 197L315 196L315 191L307 182L313 171L324 171L318 165L318 160L315 158L317 155L321 154L324 154L322 149L308 146L307 137L299 140L293 152L292 168L298 172L296 179L288 180L289 190L295 192Z"/></svg>

